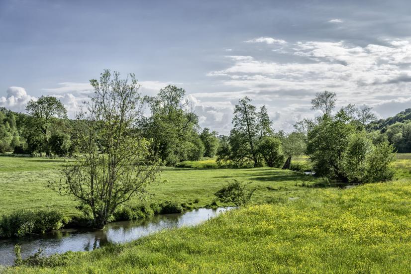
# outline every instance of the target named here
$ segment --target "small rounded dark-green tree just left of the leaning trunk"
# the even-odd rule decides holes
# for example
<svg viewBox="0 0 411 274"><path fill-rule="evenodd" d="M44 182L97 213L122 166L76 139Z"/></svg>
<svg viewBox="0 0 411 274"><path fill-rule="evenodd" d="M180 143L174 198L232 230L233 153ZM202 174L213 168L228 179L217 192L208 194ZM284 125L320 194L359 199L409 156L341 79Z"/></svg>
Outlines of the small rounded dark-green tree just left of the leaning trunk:
<svg viewBox="0 0 411 274"><path fill-rule="evenodd" d="M273 136L262 137L258 142L258 152L270 168L279 168L284 162L280 138Z"/></svg>

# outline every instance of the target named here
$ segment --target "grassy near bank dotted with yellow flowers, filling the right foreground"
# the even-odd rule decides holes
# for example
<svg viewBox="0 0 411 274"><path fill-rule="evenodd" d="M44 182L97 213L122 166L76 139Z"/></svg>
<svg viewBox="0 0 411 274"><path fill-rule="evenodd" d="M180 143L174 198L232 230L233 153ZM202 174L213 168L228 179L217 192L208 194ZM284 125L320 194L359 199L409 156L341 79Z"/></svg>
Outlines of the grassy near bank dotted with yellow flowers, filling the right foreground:
<svg viewBox="0 0 411 274"><path fill-rule="evenodd" d="M411 181L317 188L10 273L410 273Z"/></svg>

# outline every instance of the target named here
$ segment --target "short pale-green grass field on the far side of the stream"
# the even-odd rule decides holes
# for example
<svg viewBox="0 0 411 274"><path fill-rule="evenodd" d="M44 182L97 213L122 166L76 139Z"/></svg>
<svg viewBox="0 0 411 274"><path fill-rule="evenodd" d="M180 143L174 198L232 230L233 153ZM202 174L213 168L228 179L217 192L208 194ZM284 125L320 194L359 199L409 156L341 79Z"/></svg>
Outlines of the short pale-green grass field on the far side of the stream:
<svg viewBox="0 0 411 274"><path fill-rule="evenodd" d="M46 187L49 180L58 179L59 168L64 160L46 158L0 157L0 215L19 208L53 208L68 216L81 215L75 209L76 201L70 196L60 196ZM253 202L262 203L272 199L299 196L319 180L304 174L271 168L257 169L178 169L163 170L148 190L153 195L146 201L134 199L130 205L177 201L204 207L214 200L213 193L231 179L253 182L257 188Z"/></svg>

